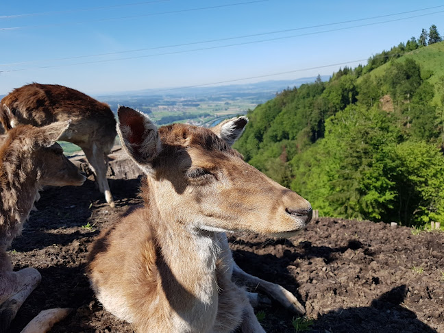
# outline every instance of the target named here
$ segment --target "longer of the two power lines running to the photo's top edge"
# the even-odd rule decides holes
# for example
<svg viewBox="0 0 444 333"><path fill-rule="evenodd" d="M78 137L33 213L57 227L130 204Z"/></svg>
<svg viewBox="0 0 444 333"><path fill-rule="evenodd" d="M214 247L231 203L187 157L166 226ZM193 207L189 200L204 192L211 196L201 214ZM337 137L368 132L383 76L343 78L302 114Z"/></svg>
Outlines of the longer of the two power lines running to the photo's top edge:
<svg viewBox="0 0 444 333"><path fill-rule="evenodd" d="M26 29L26 28L36 28L36 27L60 27L62 25L77 25L77 24L89 23L89 22L116 21L116 20L123 20L123 19L129 19L129 18L146 17L146 16L156 16L156 15L164 15L164 14L193 12L193 11L196 11L196 10L209 10L209 9L215 9L215 8L226 8L226 7L232 7L232 6L235 6L235 5L249 5L251 3L260 3L260 2L265 2L265 1L270 1L270 0L254 0L254 1L246 1L246 2L240 2L240 3L229 3L229 4L225 4L225 5L213 5L213 6L208 6L208 7L189 8L189 9L186 9L186 10L171 10L169 12L157 12L157 13L139 14L139 15L132 15L132 16L119 16L119 17L112 17L112 18L100 18L100 19L97 19L97 20L89 20L89 21L78 21L78 22L68 22L68 23L54 23L54 24L45 24L45 25L25 25L23 27L4 27L4 28L0 28L0 31Z"/></svg>

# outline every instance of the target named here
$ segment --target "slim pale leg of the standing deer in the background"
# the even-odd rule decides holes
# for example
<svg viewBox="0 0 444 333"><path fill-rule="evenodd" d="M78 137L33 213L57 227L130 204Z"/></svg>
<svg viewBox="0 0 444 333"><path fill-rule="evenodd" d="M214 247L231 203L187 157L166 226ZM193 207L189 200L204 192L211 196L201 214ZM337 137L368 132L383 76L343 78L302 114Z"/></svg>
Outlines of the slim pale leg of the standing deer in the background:
<svg viewBox="0 0 444 333"><path fill-rule="evenodd" d="M83 149L83 148L82 148ZM85 148L83 149L88 162L90 163L91 169L96 175L97 184L99 184L99 190L101 193L105 193L106 202L111 207L114 207L114 200L112 199L110 185L108 184L108 180L106 179L106 171L108 169L108 162L105 158L105 153L103 149L98 147L95 143L93 143L93 148Z"/></svg>

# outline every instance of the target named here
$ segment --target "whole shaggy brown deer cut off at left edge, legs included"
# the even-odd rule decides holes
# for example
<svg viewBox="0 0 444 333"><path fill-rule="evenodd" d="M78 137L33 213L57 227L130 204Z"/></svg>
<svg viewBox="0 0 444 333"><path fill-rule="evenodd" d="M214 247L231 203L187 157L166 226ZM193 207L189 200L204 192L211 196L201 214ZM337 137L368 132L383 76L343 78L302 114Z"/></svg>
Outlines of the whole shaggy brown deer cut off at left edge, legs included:
<svg viewBox="0 0 444 333"><path fill-rule="evenodd" d="M70 121L43 127L17 125L0 138L0 332L7 330L41 280L40 273L32 267L13 271L7 253L12 240L21 234L38 191L42 186L81 186L86 180L56 143L69 124ZM46 310L36 317L37 326L34 321L34 326L23 332L47 332L68 313L69 309L52 309L49 315Z"/></svg>

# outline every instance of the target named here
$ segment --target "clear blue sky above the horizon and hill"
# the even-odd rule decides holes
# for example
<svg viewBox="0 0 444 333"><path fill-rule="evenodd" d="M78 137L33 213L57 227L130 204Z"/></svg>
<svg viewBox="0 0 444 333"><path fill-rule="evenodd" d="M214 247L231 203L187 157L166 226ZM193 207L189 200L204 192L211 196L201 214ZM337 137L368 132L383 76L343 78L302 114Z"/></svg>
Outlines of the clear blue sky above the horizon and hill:
<svg viewBox="0 0 444 333"><path fill-rule="evenodd" d="M432 24L444 33L439 0L14 0L1 8L0 94L30 82L98 95L330 75L340 66L299 70L356 66ZM217 39L225 40L205 42Z"/></svg>

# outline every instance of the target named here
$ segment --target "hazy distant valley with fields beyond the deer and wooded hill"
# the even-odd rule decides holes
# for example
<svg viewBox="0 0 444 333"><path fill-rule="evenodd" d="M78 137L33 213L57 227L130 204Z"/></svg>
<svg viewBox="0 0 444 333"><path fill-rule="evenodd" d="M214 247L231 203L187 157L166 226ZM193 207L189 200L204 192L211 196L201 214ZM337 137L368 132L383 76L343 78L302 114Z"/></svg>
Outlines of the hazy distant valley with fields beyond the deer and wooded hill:
<svg viewBox="0 0 444 333"><path fill-rule="evenodd" d="M315 79L316 77L304 77L230 86L145 89L97 95L95 98L108 103L114 112L119 105L143 111L157 125L181 122L212 126L230 116L246 114L248 110L272 99L285 88L299 87L301 84L314 82ZM328 79L328 76L321 79Z"/></svg>

